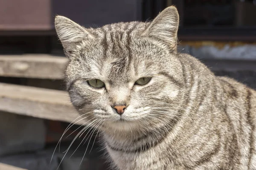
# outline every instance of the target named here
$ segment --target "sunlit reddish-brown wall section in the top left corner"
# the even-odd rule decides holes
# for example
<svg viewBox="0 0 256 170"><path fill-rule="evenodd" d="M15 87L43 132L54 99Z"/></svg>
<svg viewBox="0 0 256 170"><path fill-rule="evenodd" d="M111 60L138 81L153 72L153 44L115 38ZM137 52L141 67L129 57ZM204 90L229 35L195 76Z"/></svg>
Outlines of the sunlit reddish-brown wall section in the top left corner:
<svg viewBox="0 0 256 170"><path fill-rule="evenodd" d="M0 31L51 29L50 0L0 0Z"/></svg>

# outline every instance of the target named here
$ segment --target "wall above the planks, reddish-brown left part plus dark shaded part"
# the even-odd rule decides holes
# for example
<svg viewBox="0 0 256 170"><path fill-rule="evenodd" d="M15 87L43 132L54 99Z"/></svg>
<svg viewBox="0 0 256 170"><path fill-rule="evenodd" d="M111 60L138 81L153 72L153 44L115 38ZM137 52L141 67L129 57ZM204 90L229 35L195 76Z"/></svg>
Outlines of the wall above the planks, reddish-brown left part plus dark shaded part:
<svg viewBox="0 0 256 170"><path fill-rule="evenodd" d="M54 16L84 26L140 20L141 0L0 0L0 31L47 31Z"/></svg>

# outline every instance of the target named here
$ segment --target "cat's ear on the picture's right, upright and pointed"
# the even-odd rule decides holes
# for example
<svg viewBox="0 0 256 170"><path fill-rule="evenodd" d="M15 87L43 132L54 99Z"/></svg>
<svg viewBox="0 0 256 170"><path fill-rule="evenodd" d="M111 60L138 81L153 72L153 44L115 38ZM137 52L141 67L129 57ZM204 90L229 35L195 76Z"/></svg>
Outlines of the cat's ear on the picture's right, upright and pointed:
<svg viewBox="0 0 256 170"><path fill-rule="evenodd" d="M143 35L167 43L176 51L179 14L175 6L164 9L145 30Z"/></svg>

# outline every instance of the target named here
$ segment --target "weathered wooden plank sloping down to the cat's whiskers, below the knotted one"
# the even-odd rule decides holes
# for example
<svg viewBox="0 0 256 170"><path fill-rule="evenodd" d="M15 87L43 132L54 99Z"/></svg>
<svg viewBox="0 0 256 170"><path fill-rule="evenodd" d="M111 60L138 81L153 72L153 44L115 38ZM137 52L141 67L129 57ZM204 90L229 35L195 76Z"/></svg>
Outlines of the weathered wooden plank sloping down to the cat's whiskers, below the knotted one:
<svg viewBox="0 0 256 170"><path fill-rule="evenodd" d="M0 83L0 111L63 122L79 117L65 91L5 83Z"/></svg>

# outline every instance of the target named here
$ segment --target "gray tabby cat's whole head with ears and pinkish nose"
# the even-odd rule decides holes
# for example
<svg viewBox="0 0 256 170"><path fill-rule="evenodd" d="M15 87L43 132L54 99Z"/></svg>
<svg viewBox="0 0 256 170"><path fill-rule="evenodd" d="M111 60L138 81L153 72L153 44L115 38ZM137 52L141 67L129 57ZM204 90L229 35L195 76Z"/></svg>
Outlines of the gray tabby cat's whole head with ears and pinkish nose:
<svg viewBox="0 0 256 170"><path fill-rule="evenodd" d="M88 123L131 130L175 116L184 84L176 52L178 25L173 6L151 23L114 23L102 28L55 18L69 58L68 92Z"/></svg>

